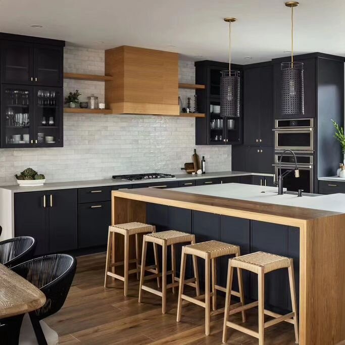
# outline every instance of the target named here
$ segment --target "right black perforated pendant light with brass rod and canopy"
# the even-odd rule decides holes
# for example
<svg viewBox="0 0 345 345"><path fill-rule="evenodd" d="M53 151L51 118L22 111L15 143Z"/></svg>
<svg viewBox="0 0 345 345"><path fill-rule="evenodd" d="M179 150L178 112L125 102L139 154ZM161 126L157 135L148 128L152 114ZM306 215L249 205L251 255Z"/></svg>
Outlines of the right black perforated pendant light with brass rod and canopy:
<svg viewBox="0 0 345 345"><path fill-rule="evenodd" d="M291 62L281 66L281 115L304 116L303 63L293 61L293 8L298 2L285 3L291 8Z"/></svg>

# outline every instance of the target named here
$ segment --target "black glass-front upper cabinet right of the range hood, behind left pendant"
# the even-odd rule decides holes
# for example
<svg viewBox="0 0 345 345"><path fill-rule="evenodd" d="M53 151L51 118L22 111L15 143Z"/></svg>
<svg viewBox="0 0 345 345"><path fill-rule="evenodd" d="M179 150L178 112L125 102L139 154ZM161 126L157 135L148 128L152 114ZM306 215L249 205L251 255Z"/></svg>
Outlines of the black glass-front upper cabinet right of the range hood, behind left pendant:
<svg viewBox="0 0 345 345"><path fill-rule="evenodd" d="M215 109L220 106L220 72L228 69L229 64L216 61L195 63L195 82L206 85L205 89L196 90L199 110L206 114L205 118L195 119L196 145L235 145L242 142L242 104L240 117L236 118L222 119ZM231 65L231 69L240 71L242 78L242 66ZM240 85L242 100L242 79Z"/></svg>

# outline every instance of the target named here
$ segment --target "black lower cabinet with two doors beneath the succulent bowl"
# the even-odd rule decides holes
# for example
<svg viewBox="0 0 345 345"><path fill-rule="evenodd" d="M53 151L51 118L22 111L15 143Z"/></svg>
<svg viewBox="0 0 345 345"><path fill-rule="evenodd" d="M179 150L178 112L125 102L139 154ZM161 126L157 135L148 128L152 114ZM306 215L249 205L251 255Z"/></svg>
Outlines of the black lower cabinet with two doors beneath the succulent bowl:
<svg viewBox="0 0 345 345"><path fill-rule="evenodd" d="M15 236L32 236L35 255L77 248L77 190L15 194Z"/></svg>

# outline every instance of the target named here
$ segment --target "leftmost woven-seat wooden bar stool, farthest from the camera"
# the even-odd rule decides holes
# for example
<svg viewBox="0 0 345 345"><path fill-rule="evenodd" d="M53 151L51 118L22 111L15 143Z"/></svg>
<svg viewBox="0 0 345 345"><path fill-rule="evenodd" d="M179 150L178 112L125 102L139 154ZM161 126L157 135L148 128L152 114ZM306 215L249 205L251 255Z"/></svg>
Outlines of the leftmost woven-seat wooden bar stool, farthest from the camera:
<svg viewBox="0 0 345 345"><path fill-rule="evenodd" d="M108 246L107 246L107 259L106 259L106 275L104 286L108 287L108 278L119 279L124 282L124 295L128 293L128 275L136 273L137 279L139 279L140 272L140 253L139 253L139 234L147 234L156 232L156 227L150 224L144 224L139 222L131 222L124 224L116 224L109 226L108 232ZM124 261L115 262L115 234L121 234L124 236ZM129 259L129 236L135 235L135 259ZM157 256L157 244L154 243L155 265L146 267L146 270L152 272L154 277L157 277L158 287L160 286L159 280L159 263ZM129 270L128 266L131 263L136 264L136 268ZM124 266L124 275L115 274L116 266Z"/></svg>

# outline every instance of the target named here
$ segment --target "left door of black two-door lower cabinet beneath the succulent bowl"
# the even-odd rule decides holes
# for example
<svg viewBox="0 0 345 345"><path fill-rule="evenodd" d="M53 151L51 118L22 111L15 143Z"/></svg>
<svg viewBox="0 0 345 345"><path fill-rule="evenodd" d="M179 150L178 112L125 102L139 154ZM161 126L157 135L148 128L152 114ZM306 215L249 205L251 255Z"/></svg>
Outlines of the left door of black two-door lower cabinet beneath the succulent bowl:
<svg viewBox="0 0 345 345"><path fill-rule="evenodd" d="M47 212L43 205L45 193L34 191L14 195L15 236L32 236L37 244L34 255L48 253Z"/></svg>

